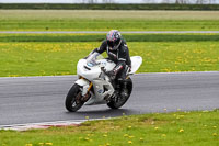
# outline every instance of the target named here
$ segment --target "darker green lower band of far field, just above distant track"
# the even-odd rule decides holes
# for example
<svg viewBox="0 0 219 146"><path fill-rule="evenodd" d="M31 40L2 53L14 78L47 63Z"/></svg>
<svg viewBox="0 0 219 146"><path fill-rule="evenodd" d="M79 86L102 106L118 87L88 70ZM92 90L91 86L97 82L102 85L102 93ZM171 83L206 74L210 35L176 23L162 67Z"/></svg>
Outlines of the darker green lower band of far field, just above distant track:
<svg viewBox="0 0 219 146"><path fill-rule="evenodd" d="M219 21L69 20L3 21L1 31L219 31Z"/></svg>

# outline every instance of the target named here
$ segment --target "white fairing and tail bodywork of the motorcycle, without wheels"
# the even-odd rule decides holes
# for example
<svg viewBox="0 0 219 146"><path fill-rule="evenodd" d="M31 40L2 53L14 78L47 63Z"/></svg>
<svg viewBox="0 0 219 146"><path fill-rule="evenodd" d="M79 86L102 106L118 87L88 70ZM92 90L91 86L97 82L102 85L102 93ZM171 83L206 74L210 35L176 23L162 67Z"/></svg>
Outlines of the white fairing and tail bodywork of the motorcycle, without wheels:
<svg viewBox="0 0 219 146"><path fill-rule="evenodd" d="M90 82L93 83L93 92L91 98L85 102L87 105L106 103L108 97L114 93L114 88L110 82L110 78L105 75L101 68L106 71L112 70L116 65L107 59L96 59L100 54L94 53L87 59L80 59L77 65L77 74L82 79L76 81L82 90L82 96L88 92ZM142 63L140 56L134 56L131 59L131 72L135 74Z"/></svg>

